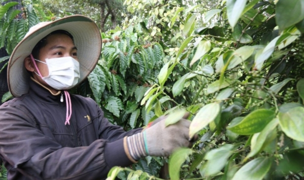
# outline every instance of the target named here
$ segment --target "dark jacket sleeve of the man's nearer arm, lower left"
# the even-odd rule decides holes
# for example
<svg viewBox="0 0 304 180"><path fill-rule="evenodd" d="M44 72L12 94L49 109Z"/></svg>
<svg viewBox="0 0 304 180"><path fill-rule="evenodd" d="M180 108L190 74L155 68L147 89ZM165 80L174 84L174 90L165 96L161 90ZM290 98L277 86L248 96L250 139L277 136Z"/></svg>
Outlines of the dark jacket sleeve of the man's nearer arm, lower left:
<svg viewBox="0 0 304 180"><path fill-rule="evenodd" d="M108 137L112 134L108 132ZM132 164L123 139L116 139L96 140L86 147L62 147L36 127L25 108L0 107L0 155L30 179L103 179L111 167ZM105 158L106 151L112 159Z"/></svg>

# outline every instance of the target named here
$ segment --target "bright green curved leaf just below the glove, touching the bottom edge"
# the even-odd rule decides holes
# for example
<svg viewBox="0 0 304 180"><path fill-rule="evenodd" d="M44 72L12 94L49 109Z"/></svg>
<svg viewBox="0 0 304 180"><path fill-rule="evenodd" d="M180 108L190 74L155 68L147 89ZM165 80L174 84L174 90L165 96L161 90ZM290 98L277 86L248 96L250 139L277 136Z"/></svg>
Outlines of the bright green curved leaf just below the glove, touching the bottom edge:
<svg viewBox="0 0 304 180"><path fill-rule="evenodd" d="M181 148L176 150L169 158L169 175L172 180L179 179L181 164L192 154L191 149Z"/></svg>

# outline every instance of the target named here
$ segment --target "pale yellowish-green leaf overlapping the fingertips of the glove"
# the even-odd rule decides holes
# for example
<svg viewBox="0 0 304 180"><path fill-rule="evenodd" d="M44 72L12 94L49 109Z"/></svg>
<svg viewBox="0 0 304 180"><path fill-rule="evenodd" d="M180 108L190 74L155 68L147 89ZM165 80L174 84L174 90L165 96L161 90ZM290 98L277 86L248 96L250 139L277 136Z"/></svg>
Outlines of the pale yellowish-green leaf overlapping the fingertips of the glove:
<svg viewBox="0 0 304 180"><path fill-rule="evenodd" d="M194 135L212 122L220 112L220 105L218 103L210 103L200 109L198 114L192 120L189 127L189 137Z"/></svg>

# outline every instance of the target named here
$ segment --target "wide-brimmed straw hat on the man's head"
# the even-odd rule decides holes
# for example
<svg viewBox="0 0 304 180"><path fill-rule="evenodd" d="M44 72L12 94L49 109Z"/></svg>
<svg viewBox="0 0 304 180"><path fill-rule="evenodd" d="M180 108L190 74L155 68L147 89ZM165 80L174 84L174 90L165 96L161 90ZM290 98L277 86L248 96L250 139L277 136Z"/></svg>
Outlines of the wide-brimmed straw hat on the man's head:
<svg viewBox="0 0 304 180"><path fill-rule="evenodd" d="M24 67L24 59L31 54L36 43L55 30L65 30L73 36L80 63L82 82L95 68L101 51L101 34L96 23L82 15L73 15L53 22L42 22L31 27L14 49L8 64L8 85L13 96L26 94L30 75Z"/></svg>

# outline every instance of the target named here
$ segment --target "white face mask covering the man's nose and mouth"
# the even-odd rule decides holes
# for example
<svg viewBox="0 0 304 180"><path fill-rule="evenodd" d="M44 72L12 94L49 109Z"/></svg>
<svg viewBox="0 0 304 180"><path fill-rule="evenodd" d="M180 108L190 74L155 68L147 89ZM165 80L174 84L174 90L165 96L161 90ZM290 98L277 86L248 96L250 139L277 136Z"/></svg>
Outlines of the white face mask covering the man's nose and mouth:
<svg viewBox="0 0 304 180"><path fill-rule="evenodd" d="M49 75L42 77L39 69L36 67L39 75L47 84L57 90L69 89L75 86L80 78L79 62L72 57L62 57L46 59ZM36 64L36 63L34 63Z"/></svg>

